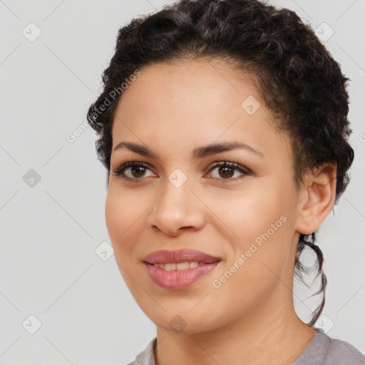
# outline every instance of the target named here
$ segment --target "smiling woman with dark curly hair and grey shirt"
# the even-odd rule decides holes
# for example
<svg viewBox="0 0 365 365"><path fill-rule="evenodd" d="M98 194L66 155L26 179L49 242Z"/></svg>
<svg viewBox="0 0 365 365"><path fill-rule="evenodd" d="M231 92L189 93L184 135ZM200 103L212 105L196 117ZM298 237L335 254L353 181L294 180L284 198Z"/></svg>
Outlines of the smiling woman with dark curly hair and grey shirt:
<svg viewBox="0 0 365 365"><path fill-rule="evenodd" d="M120 29L88 110L115 259L157 336L131 364L364 364L314 327L346 185L346 78L293 11L183 0ZM322 304L297 316L317 254Z"/></svg>

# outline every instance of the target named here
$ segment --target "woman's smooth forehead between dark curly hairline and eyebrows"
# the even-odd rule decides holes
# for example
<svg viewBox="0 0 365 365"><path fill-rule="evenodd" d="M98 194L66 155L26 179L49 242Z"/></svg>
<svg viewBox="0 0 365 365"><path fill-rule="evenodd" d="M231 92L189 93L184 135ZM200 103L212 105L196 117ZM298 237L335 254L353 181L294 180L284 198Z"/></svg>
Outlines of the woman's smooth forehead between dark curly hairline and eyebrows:
<svg viewBox="0 0 365 365"><path fill-rule="evenodd" d="M265 155L288 152L270 118L252 78L227 63L156 63L140 68L123 91L113 120L113 148L121 139L182 152L215 140L240 140Z"/></svg>

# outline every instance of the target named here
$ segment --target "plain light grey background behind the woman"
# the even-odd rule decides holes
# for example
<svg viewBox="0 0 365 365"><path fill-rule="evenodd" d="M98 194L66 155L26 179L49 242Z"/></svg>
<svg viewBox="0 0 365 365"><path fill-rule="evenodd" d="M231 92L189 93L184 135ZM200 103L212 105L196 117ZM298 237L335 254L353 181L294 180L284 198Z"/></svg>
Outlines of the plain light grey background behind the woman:
<svg viewBox="0 0 365 365"><path fill-rule="evenodd" d="M95 252L108 232L106 172L96 159L93 130L73 143L66 135L83 124L101 90L120 26L168 2L0 1L3 365L123 365L155 336L114 257L103 261ZM318 235L329 278L321 325L365 353L365 1L271 2L293 9L314 29L327 23L334 35L325 44L352 80L352 180ZM42 32L34 42L22 34L36 34L31 22ZM23 180L31 169L41 177L33 187ZM307 320L315 306L295 299ZM35 334L29 334L36 328L31 314L41 322Z"/></svg>

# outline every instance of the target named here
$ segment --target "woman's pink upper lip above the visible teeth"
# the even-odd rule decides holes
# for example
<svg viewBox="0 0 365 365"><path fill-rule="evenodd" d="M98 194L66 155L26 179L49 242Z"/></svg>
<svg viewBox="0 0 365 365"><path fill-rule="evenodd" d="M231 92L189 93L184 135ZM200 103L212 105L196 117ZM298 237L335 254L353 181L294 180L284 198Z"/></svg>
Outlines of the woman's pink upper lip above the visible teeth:
<svg viewBox="0 0 365 365"><path fill-rule="evenodd" d="M149 264L170 264L173 262L187 262L187 261L197 261L197 262L205 262L210 264L212 262L220 261L219 257L213 257L211 255L206 254L205 252L183 249L183 250L160 250L151 252L143 261L148 262Z"/></svg>

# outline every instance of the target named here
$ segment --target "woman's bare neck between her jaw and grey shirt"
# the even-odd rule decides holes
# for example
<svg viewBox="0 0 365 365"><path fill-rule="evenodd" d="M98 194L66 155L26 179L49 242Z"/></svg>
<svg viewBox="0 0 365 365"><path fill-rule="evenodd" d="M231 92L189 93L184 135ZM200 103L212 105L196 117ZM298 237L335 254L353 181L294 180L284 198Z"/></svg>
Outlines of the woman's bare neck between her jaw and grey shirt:
<svg viewBox="0 0 365 365"><path fill-rule="evenodd" d="M289 293L292 294L291 292ZM283 298L283 297L282 297ZM263 308L264 307L264 308ZM199 333L157 328L156 365L289 365L316 331L294 311L292 297L265 302L223 327Z"/></svg>

